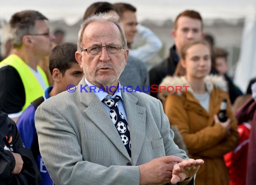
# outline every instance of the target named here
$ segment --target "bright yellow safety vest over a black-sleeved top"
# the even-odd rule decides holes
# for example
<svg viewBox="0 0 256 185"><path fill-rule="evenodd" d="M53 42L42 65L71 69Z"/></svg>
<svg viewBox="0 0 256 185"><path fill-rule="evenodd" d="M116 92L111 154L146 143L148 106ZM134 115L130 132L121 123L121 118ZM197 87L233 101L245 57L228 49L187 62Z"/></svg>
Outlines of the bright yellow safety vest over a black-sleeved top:
<svg viewBox="0 0 256 185"><path fill-rule="evenodd" d="M18 71L22 79L26 97L25 105L22 107L22 111L24 111L32 101L44 95L44 90L36 79L35 75L20 57L14 54L10 55L0 62L0 68L3 66L13 66ZM36 68L43 77L46 87L49 87L49 83L44 71L40 68L40 66L37 66Z"/></svg>

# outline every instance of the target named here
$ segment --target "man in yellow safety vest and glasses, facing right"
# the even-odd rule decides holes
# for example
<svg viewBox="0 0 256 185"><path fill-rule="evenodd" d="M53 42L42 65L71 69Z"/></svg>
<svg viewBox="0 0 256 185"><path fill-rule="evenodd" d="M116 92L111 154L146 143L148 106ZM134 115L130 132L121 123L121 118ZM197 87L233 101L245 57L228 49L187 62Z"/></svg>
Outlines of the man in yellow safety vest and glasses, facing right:
<svg viewBox="0 0 256 185"><path fill-rule="evenodd" d="M0 62L0 110L17 118L41 97L49 87L44 71L38 66L50 54L54 36L48 19L33 10L13 14L10 20L12 54Z"/></svg>

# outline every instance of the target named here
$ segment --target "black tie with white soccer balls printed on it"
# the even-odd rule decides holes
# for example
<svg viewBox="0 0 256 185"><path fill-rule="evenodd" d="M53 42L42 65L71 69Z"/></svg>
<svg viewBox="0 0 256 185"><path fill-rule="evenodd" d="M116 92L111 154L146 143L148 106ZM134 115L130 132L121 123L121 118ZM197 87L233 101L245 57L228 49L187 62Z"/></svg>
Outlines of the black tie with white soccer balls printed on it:
<svg viewBox="0 0 256 185"><path fill-rule="evenodd" d="M124 115L118 109L119 96L115 98L104 98L103 102L110 108L110 119L115 124L121 140L124 143L126 150L128 151L129 156L131 157L131 140L130 140L130 131L127 121L124 118Z"/></svg>

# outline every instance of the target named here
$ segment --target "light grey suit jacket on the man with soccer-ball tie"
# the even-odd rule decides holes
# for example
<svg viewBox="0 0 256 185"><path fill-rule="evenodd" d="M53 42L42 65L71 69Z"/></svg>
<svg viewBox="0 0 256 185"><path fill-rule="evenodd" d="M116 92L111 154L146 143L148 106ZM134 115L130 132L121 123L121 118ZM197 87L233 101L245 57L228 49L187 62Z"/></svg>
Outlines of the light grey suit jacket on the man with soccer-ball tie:
<svg viewBox="0 0 256 185"><path fill-rule="evenodd" d="M95 93L63 92L35 113L40 153L56 185L139 184L138 165L165 155L188 159L173 142L161 102L145 93L122 93L132 158ZM87 90L89 91L88 87Z"/></svg>

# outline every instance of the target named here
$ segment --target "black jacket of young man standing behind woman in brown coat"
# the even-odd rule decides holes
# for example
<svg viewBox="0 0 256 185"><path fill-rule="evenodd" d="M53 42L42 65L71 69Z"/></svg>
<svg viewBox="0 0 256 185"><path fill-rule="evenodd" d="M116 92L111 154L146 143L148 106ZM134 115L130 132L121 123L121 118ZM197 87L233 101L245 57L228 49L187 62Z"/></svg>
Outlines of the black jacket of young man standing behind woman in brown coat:
<svg viewBox="0 0 256 185"><path fill-rule="evenodd" d="M179 57L176 53L176 46L173 45L170 48L170 55L168 58L164 59L163 62L159 63L158 65L154 66L150 72L150 87L151 85L159 85L162 80L170 75L172 76L176 70L177 64L179 62ZM152 97L157 98L157 93L150 93Z"/></svg>

